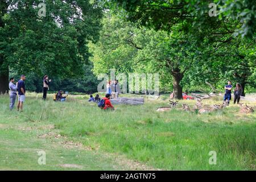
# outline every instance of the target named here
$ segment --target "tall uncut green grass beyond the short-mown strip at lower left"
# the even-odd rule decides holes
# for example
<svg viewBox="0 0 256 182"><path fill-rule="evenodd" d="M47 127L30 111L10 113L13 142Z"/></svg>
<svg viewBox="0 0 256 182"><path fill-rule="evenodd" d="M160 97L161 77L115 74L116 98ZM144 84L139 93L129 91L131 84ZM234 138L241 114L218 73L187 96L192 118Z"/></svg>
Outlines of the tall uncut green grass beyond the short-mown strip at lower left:
<svg viewBox="0 0 256 182"><path fill-rule="evenodd" d="M61 135L95 150L125 154L130 159L161 169L255 170L256 114L239 114L238 106L208 114L178 109L156 112L168 100L146 100L144 105L116 105L115 111L98 109L88 96L70 96L68 102L42 101L31 94L23 113L10 116L8 97L1 96L3 118L13 123L54 124ZM205 100L204 104L221 102ZM189 105L195 101L180 101ZM255 104L255 103L253 103ZM216 151L217 164L209 164L209 152Z"/></svg>

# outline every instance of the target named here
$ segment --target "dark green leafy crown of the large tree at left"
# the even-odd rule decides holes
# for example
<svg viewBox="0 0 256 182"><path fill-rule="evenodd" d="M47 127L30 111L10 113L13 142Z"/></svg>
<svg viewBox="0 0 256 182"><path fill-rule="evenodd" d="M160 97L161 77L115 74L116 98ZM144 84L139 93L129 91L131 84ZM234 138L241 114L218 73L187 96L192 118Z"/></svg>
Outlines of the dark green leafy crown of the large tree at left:
<svg viewBox="0 0 256 182"><path fill-rule="evenodd" d="M25 74L81 76L90 56L87 44L98 39L101 8L97 1L47 0L46 17L39 17L39 2L12 1L3 16L0 47L5 62Z"/></svg>

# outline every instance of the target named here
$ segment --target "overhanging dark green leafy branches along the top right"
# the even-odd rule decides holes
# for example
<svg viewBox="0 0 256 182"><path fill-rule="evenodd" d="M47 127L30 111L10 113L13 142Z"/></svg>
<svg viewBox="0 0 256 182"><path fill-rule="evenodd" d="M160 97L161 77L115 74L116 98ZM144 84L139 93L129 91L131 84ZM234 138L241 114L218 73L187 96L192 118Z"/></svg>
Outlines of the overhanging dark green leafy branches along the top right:
<svg viewBox="0 0 256 182"><path fill-rule="evenodd" d="M209 3L214 2L217 5L218 17L209 17ZM125 10L126 18L138 22L143 26L155 28L156 30L171 31L172 27L178 23L189 22L196 28L214 29L212 23L218 18L224 21L237 20L240 26L233 31L236 36L252 38L255 35L256 26L256 6L253 0L176 0L176 1L125 1L112 0L108 3L111 9L114 5ZM123 6L122 6L123 5ZM136 11L135 11L136 10Z"/></svg>

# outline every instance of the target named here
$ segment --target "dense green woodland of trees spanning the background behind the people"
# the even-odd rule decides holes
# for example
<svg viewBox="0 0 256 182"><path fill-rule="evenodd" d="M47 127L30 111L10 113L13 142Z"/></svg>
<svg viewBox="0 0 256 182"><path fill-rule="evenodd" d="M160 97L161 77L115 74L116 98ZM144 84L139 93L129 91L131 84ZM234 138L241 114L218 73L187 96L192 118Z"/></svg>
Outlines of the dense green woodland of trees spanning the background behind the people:
<svg viewBox="0 0 256 182"><path fill-rule="evenodd" d="M38 4L46 3L46 16ZM209 16L209 3L217 16ZM228 80L256 88L253 0L1 0L0 92L9 77L27 88L97 92L97 75L160 74L160 91L222 90ZM243 93L243 95L245 95Z"/></svg>

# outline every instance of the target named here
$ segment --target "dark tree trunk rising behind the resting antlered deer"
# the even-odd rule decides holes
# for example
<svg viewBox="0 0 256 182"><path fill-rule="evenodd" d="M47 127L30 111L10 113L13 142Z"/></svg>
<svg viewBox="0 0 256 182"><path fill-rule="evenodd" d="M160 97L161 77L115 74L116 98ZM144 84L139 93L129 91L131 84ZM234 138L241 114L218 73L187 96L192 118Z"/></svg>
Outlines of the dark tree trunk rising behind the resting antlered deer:
<svg viewBox="0 0 256 182"><path fill-rule="evenodd" d="M175 71L172 71L172 76L174 77L174 97L175 99L183 99L182 97L182 87L180 86L180 81L183 78L184 73L180 72L180 69L176 69Z"/></svg>

